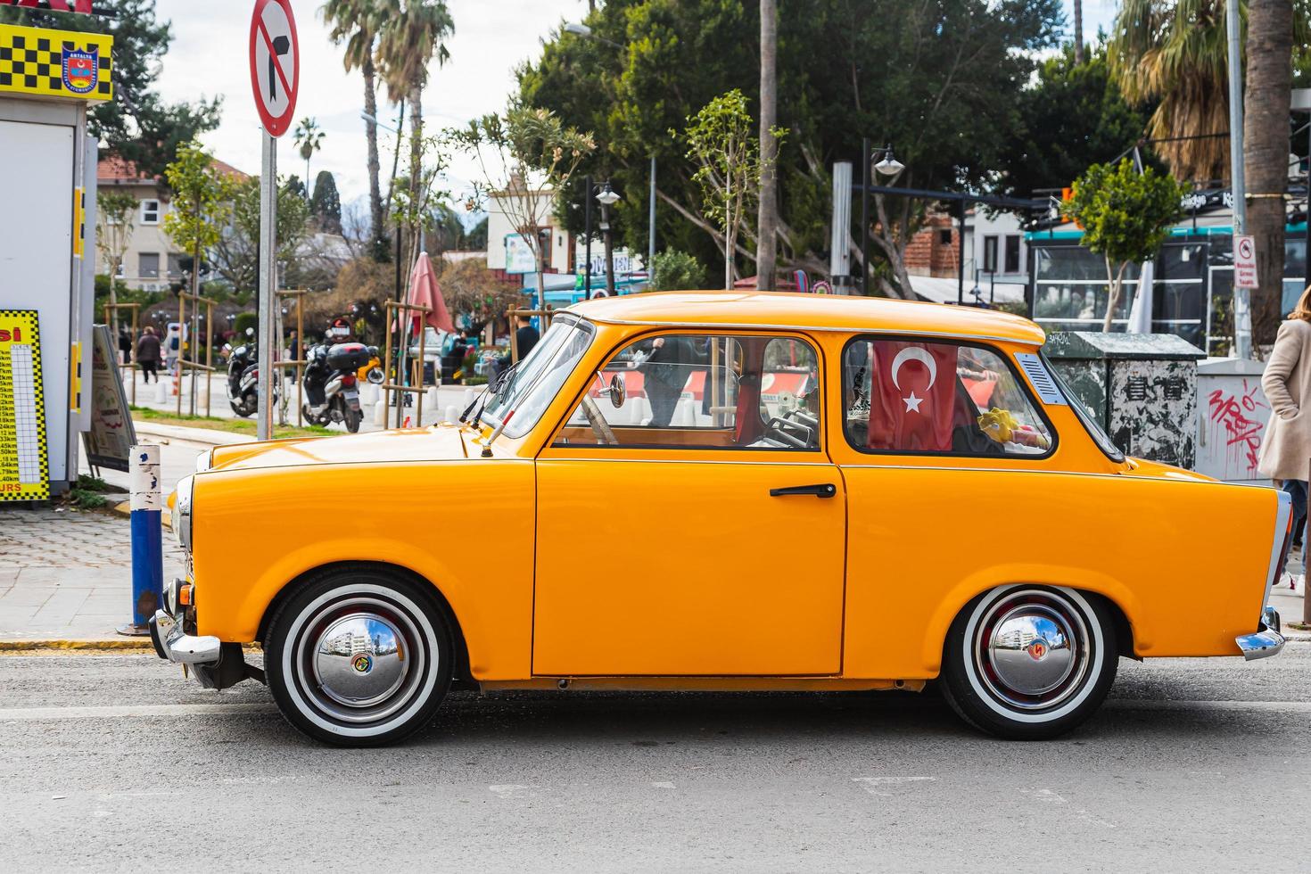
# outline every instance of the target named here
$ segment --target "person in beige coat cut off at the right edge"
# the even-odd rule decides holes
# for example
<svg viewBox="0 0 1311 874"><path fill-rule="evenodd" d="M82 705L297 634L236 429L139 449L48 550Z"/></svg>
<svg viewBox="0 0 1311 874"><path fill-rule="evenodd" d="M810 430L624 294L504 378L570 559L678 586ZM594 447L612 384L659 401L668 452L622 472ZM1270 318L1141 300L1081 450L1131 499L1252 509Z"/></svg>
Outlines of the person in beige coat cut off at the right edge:
<svg viewBox="0 0 1311 874"><path fill-rule="evenodd" d="M1289 494L1294 524L1302 525L1307 515L1307 469L1311 466L1311 286L1280 325L1261 375L1261 389L1274 414L1265 428L1257 469ZM1308 546L1311 544L1302 544L1303 574L1287 575L1294 588L1304 579Z"/></svg>

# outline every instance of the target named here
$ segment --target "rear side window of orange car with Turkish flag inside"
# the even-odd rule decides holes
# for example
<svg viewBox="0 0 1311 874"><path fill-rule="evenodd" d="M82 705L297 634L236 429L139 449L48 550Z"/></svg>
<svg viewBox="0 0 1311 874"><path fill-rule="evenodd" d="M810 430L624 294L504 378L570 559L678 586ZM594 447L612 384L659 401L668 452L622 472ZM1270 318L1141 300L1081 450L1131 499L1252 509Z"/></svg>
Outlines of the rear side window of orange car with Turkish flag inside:
<svg viewBox="0 0 1311 874"><path fill-rule="evenodd" d="M867 452L1046 455L1051 431L998 352L857 338L842 360L847 439Z"/></svg>

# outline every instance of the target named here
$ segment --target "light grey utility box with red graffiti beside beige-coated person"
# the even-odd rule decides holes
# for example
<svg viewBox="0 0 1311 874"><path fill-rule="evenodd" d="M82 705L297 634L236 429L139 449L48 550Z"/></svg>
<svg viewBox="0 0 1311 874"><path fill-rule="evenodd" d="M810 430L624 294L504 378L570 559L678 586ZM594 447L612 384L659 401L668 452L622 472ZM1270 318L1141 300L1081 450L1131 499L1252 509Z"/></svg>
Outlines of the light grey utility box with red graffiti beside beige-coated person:
<svg viewBox="0 0 1311 874"><path fill-rule="evenodd" d="M1261 390L1265 362L1209 358L1197 366L1197 472L1268 485L1256 469L1273 411Z"/></svg>

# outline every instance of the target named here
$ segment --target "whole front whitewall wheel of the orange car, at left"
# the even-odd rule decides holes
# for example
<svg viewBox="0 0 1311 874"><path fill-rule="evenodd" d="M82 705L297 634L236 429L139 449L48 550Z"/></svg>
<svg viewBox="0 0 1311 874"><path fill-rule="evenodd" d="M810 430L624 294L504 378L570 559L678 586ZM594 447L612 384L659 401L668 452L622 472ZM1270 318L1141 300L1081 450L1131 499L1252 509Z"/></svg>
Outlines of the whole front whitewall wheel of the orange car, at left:
<svg viewBox="0 0 1311 874"><path fill-rule="evenodd" d="M269 689L304 734L343 747L400 740L451 685L451 633L421 586L361 570L305 584L273 617Z"/></svg>

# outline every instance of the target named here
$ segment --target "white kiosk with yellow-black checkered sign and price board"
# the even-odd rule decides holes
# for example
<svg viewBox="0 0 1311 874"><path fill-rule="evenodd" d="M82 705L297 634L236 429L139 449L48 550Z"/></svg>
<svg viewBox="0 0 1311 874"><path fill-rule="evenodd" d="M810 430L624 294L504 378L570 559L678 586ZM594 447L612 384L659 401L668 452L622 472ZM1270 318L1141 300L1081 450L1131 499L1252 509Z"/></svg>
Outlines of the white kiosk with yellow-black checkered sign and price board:
<svg viewBox="0 0 1311 874"><path fill-rule="evenodd" d="M96 296L87 106L113 97L111 52L105 34L0 25L0 502L77 478Z"/></svg>

